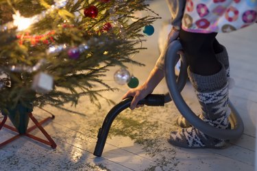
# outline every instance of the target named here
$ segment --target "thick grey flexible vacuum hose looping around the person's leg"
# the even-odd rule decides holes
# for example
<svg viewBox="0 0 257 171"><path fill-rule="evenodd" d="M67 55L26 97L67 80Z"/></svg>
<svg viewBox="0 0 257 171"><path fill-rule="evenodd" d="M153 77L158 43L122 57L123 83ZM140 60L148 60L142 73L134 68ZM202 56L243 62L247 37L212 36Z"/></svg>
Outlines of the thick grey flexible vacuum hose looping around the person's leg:
<svg viewBox="0 0 257 171"><path fill-rule="evenodd" d="M188 107L186 102L184 101L184 98L182 98L182 95L180 94L180 91L178 90L178 86L176 83L175 78L175 64L177 63L177 53L178 51L182 50L182 45L180 44L179 40L175 40L169 44L169 47L167 49L166 55L165 55L165 79L167 81L167 86L169 88L169 94L171 98L173 99L173 102L175 103L176 107L180 111L180 113L190 122L193 127L199 129L206 135L209 135L210 137L216 137L218 139L223 140L233 140L237 139L243 134L244 126L243 121L232 105L231 102L229 102L229 106L232 109L232 113L230 114L230 121L234 124L234 129L217 129L215 127L210 126L200 118L198 118L194 112ZM181 63L185 63L185 59L182 58ZM180 68L180 72L186 73L186 68ZM184 77L188 77L187 75L184 75Z"/></svg>

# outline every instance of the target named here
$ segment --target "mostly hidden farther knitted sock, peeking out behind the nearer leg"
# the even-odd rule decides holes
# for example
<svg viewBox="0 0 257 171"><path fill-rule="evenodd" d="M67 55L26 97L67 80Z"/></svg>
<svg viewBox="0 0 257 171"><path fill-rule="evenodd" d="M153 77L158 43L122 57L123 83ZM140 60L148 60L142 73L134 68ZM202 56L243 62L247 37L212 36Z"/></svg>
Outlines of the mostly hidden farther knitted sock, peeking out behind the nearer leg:
<svg viewBox="0 0 257 171"><path fill-rule="evenodd" d="M215 56L217 60L225 67L225 72L229 81L229 86L232 86L233 83L230 83L230 81L233 82L233 80L230 79L230 62L228 58L228 51L225 49L225 47L221 44L223 51L221 53L216 53ZM199 117L201 115L198 115ZM200 117L201 118L201 117ZM178 116L176 123L178 126L182 128L188 128L191 127L192 125L184 118L182 115Z"/></svg>

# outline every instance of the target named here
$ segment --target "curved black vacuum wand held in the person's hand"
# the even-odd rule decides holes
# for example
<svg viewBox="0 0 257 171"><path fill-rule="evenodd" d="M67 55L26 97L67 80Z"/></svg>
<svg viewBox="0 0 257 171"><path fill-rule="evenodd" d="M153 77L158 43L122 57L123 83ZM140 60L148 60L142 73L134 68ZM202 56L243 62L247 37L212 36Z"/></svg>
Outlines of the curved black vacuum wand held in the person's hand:
<svg viewBox="0 0 257 171"><path fill-rule="evenodd" d="M139 105L148 106L164 106L164 94L149 94L138 102ZM130 107L133 97L125 98L121 103L115 105L110 109L105 120L103 121L102 127L99 129L97 135L97 145L95 146L94 155L100 157L103 153L104 145L106 144L106 138L108 136L110 127L114 119L127 107Z"/></svg>

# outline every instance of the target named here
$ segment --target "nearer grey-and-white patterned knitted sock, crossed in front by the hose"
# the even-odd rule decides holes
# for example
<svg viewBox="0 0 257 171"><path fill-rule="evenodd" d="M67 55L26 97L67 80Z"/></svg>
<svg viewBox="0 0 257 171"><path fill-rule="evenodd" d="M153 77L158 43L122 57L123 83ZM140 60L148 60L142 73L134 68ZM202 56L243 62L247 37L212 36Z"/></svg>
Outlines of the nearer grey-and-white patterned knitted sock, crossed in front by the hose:
<svg viewBox="0 0 257 171"><path fill-rule="evenodd" d="M225 68L210 76L196 75L188 68L188 76L201 105L204 122L219 129L228 129L228 83ZM195 127L171 132L168 141L184 148L224 148L227 144L225 140L210 137Z"/></svg>

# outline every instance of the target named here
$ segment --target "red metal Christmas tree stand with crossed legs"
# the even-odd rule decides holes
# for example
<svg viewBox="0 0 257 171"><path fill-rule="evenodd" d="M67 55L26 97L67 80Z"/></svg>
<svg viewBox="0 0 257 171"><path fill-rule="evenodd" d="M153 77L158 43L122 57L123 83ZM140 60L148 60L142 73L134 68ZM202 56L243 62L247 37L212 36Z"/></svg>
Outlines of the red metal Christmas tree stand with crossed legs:
<svg viewBox="0 0 257 171"><path fill-rule="evenodd" d="M57 145L56 145L56 142L53 141L53 139L51 138L51 136L50 136L50 135L47 133L47 131L45 131L45 129L41 126L42 124L44 124L44 123L47 122L48 120L53 120L53 119L55 118L55 116L54 116L53 114L51 114L51 117L49 116L49 117L45 118L44 120L41 120L40 122L38 122L38 120L36 120L36 118L34 118L32 112L29 112L28 115L29 115L29 118L34 122L35 125L32 126L32 127L30 127L30 128L28 128L27 131L26 131L24 134L19 133L19 131L17 131L16 128L10 127L9 125L5 124L5 122L6 122L7 118L8 118L8 116L4 116L4 117L3 117L3 120L2 120L2 122L0 123L0 130L2 129L2 127L5 127L5 128L7 128L7 129L10 129L10 130L12 130L12 131L14 131L14 132L16 132L16 133L19 133L19 134L18 134L18 135L14 135L14 137L11 137L9 140L6 140L5 142L2 142L2 143L0 144L0 148L1 148L2 146L4 146L5 144L8 144L8 143L10 143L10 142L16 140L18 137L21 137L22 135L25 135L25 136L27 136L27 137L29 137L29 138L32 138L33 140L36 140L36 141L38 141L38 142L42 142L43 144L47 144L47 145L51 146L51 148L56 148L56 146L57 146ZM30 131L33 131L33 130L36 129L36 128L38 128L38 129L45 135L45 137L47 138L48 141L43 140L43 139L40 138L40 137L36 137L36 136L34 136L34 135L32 135L32 134L29 134Z"/></svg>

